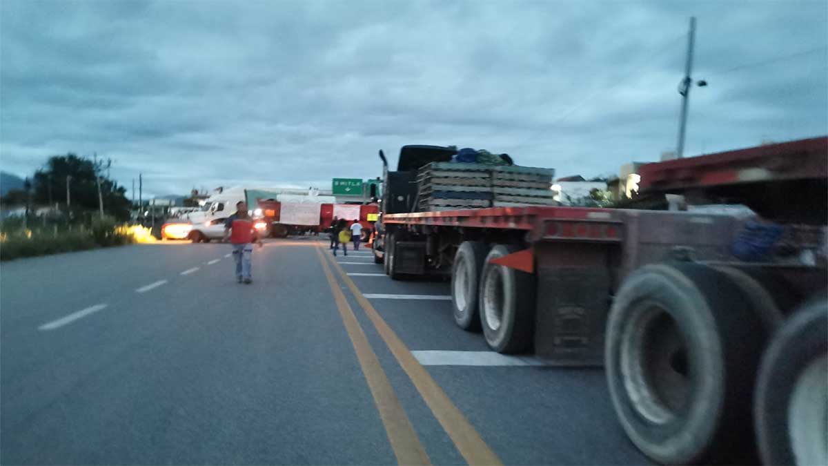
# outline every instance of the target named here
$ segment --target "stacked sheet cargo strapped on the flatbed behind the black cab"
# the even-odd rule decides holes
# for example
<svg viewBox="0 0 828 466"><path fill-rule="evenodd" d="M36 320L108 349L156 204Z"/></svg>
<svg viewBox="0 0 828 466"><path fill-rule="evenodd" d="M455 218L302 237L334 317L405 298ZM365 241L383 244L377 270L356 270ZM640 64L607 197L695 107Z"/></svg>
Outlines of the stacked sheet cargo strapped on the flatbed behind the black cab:
<svg viewBox="0 0 828 466"><path fill-rule="evenodd" d="M554 170L482 163L429 163L417 176L417 210L551 206Z"/></svg>

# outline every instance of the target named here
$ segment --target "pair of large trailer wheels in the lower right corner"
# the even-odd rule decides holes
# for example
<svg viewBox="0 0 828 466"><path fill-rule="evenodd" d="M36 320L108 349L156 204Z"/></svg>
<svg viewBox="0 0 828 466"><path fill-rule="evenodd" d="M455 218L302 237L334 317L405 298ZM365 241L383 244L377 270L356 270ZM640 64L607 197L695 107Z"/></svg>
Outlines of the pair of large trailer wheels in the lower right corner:
<svg viewBox="0 0 828 466"><path fill-rule="evenodd" d="M826 303L782 323L792 296L762 282L671 263L636 270L616 294L609 392L623 430L658 463L755 464L759 452L766 464L826 464Z"/></svg>

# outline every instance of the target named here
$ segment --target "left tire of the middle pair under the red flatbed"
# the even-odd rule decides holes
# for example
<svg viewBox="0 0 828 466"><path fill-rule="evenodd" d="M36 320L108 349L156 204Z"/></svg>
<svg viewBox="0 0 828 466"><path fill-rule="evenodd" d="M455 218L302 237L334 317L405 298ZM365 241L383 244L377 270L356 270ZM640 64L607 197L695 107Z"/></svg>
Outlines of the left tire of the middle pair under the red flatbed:
<svg viewBox="0 0 828 466"><path fill-rule="evenodd" d="M451 308L458 327L480 330L478 294L480 274L486 262L486 245L480 241L463 241L455 253L451 268Z"/></svg>

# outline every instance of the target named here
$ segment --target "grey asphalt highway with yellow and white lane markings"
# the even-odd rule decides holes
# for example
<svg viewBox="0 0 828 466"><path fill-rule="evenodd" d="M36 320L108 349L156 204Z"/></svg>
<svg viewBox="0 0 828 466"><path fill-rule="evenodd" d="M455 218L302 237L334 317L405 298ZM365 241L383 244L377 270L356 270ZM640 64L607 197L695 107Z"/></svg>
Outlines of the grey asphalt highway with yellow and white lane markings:
<svg viewBox="0 0 828 466"><path fill-rule="evenodd" d="M2 464L649 464L599 369L499 357L444 281L312 238L0 266Z"/></svg>

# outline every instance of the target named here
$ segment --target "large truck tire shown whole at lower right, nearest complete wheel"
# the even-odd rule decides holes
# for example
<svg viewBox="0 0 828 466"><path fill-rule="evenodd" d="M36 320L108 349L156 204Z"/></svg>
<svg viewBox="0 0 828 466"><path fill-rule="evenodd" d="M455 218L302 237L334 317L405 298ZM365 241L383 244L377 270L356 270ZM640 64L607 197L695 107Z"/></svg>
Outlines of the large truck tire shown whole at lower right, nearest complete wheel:
<svg viewBox="0 0 828 466"><path fill-rule="evenodd" d="M630 274L609 313L604 362L633 444L662 464L755 461L744 425L765 339L726 274L695 263Z"/></svg>

